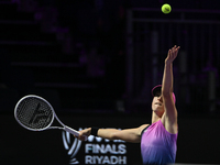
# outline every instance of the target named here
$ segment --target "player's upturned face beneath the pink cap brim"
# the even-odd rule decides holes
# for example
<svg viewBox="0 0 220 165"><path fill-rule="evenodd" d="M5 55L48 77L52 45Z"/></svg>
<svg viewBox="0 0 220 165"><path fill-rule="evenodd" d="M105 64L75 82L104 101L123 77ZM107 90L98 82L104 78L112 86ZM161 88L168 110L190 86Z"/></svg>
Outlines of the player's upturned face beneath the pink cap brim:
<svg viewBox="0 0 220 165"><path fill-rule="evenodd" d="M164 112L164 103L161 92L156 92L152 101L152 110Z"/></svg>

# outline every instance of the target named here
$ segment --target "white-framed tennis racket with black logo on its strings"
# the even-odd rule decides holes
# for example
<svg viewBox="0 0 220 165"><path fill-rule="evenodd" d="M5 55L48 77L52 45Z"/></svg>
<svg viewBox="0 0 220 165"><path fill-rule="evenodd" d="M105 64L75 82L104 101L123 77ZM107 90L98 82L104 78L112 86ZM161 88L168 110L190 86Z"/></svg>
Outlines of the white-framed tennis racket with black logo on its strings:
<svg viewBox="0 0 220 165"><path fill-rule="evenodd" d="M74 134L79 135L79 132L65 125L56 116L53 107L44 98L28 95L21 98L15 108L14 117L16 121L25 129L31 131L44 131L48 129L61 129ZM63 127L52 127L54 117ZM87 140L87 136L85 136Z"/></svg>

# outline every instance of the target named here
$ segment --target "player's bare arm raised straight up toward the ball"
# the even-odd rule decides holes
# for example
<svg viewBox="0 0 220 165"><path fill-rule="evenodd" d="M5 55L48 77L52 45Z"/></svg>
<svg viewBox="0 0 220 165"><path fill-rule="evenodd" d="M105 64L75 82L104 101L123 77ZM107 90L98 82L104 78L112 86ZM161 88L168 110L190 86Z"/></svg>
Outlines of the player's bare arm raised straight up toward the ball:
<svg viewBox="0 0 220 165"><path fill-rule="evenodd" d="M175 107L175 98L173 94L173 62L177 57L179 48L179 46L174 46L168 51L167 57L165 59L162 81L162 96L165 107L165 128L170 133L177 132L177 110Z"/></svg>

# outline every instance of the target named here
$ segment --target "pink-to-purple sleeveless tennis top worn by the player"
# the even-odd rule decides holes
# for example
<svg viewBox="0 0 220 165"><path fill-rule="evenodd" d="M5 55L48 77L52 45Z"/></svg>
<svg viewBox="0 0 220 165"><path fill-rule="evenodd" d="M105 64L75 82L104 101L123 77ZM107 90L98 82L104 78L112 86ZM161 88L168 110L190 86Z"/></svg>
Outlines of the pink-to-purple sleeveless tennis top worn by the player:
<svg viewBox="0 0 220 165"><path fill-rule="evenodd" d="M144 165L175 163L177 134L166 131L161 120L142 131L141 153Z"/></svg>

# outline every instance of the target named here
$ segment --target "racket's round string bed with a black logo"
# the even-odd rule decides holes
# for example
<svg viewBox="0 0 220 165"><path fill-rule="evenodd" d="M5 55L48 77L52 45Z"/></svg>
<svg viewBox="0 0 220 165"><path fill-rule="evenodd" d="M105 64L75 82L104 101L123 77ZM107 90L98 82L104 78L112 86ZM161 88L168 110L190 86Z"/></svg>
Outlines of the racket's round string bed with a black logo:
<svg viewBox="0 0 220 165"><path fill-rule="evenodd" d="M53 111L45 101L26 98L16 108L16 119L30 129L45 129L53 120Z"/></svg>

